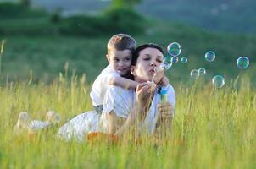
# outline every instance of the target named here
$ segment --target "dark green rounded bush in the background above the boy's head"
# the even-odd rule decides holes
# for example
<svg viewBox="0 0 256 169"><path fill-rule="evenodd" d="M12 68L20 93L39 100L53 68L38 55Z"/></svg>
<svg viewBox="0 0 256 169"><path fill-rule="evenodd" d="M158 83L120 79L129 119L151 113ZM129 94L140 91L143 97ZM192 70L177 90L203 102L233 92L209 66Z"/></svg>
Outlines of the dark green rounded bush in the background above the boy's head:
<svg viewBox="0 0 256 169"><path fill-rule="evenodd" d="M147 21L140 14L122 8L108 10L103 15L61 19L59 31L64 35L109 36L116 32L142 34L146 26Z"/></svg>

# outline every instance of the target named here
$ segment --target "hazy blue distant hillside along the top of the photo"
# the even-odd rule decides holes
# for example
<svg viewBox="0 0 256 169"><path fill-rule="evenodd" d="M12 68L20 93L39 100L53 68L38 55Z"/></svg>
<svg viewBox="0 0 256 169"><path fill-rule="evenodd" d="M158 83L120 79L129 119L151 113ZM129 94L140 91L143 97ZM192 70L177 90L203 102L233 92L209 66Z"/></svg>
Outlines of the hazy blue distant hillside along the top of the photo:
<svg viewBox="0 0 256 169"><path fill-rule="evenodd" d="M33 0L35 7L62 8L65 14L97 13L108 8L108 0ZM136 10L165 21L178 21L201 26L207 30L255 33L256 2L253 0L143 0Z"/></svg>

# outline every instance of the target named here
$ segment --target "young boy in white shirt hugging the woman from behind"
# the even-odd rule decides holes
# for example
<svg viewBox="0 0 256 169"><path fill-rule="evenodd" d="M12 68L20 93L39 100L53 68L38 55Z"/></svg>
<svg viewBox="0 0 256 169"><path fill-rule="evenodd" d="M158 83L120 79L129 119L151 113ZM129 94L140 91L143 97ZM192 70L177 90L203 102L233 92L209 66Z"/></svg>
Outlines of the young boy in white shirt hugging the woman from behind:
<svg viewBox="0 0 256 169"><path fill-rule="evenodd" d="M138 85L136 81L123 77L130 71L131 57L135 48L136 41L131 35L117 34L110 38L106 55L109 65L97 76L90 93L92 106L97 112L102 112L104 96L109 85L136 89Z"/></svg>

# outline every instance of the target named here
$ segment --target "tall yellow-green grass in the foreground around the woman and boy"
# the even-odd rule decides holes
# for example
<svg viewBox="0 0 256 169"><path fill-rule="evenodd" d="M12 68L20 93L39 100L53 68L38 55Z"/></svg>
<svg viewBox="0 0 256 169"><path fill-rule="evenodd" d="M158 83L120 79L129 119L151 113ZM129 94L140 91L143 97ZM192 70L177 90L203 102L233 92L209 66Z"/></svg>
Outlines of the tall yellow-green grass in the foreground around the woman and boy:
<svg viewBox="0 0 256 169"><path fill-rule="evenodd" d="M21 111L43 119L54 110L65 121L91 110L85 77L60 75L49 85L7 82L0 87L0 168L255 168L256 90L250 84L240 77L220 90L204 79L174 85L176 116L167 139L111 145L65 143L53 131L32 140L13 133Z"/></svg>

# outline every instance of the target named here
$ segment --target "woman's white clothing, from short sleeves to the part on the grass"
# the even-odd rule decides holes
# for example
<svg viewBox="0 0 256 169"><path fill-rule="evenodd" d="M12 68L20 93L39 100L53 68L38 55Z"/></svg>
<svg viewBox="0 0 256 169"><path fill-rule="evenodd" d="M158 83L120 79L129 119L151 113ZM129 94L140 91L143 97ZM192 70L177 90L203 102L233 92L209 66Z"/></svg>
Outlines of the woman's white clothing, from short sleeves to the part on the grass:
<svg viewBox="0 0 256 169"><path fill-rule="evenodd" d="M175 106L175 91L171 85L165 87L167 90L167 100ZM153 134L157 120L158 108L161 95L155 91L153 101L147 112L145 121L142 123L142 129L147 134ZM86 134L90 132L108 132L107 114L114 111L117 117L126 118L133 111L136 102L135 90L125 90L117 86L109 87L103 102L103 113L95 111L84 112L58 130L58 138L64 140L75 139L77 141L86 140Z"/></svg>

